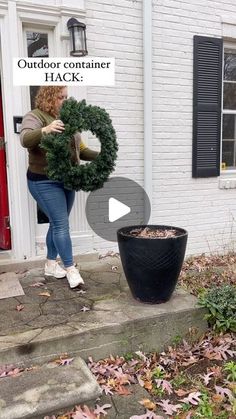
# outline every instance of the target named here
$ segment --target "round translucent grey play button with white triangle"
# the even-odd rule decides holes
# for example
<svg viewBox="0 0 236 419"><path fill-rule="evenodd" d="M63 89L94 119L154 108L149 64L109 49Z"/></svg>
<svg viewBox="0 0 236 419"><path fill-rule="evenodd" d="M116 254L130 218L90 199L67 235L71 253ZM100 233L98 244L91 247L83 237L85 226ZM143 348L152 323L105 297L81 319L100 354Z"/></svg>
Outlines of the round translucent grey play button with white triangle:
<svg viewBox="0 0 236 419"><path fill-rule="evenodd" d="M86 217L92 230L101 238L116 241L116 232L129 225L144 225L151 212L142 186L125 177L112 177L101 189L90 192Z"/></svg>

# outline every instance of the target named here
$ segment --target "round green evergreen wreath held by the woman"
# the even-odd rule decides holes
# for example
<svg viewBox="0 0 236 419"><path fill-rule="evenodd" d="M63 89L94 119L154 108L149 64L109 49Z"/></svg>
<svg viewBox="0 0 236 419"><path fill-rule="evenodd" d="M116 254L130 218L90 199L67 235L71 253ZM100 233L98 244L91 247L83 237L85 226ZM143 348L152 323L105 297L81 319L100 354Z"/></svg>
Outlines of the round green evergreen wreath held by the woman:
<svg viewBox="0 0 236 419"><path fill-rule="evenodd" d="M48 134L42 138L41 147L46 150L47 176L62 181L66 189L85 192L103 186L115 168L118 144L112 121L105 109L87 105L85 100L66 100L59 119L65 124L60 134ZM76 132L91 131L101 143L101 151L94 161L78 165L71 160L70 142Z"/></svg>

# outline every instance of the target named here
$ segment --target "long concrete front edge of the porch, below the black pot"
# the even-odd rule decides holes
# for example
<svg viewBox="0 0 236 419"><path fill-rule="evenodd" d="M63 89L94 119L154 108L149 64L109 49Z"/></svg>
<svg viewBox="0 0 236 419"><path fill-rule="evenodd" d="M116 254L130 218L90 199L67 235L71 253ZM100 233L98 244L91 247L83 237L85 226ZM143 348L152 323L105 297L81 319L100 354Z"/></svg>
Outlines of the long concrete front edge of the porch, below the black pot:
<svg viewBox="0 0 236 419"><path fill-rule="evenodd" d="M204 308L193 307L175 313L151 315L146 319L130 319L120 323L114 321L112 324L99 325L83 331L72 331L67 324L65 327L57 327L54 336L51 335L52 329L48 329L51 337L44 336L42 339L39 338L42 329L10 335L9 339L5 336L4 344L0 346L0 365L43 363L64 353L84 359L92 356L96 360L110 354L121 355L137 350L161 351L171 344L177 335L186 338L190 329L195 334L194 339L205 333L208 329L204 319L205 313ZM144 327L145 320L147 326ZM175 328L172 330L173 321ZM146 336L146 328L149 338Z"/></svg>

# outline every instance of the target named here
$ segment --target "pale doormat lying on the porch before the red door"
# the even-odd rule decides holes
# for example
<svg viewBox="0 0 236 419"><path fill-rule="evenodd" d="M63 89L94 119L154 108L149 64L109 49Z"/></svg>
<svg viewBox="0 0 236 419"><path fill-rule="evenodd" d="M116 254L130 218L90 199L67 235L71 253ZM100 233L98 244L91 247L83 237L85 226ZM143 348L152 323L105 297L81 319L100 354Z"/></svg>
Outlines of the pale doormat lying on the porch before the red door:
<svg viewBox="0 0 236 419"><path fill-rule="evenodd" d="M6 272L0 275L0 300L3 298L25 295L15 272Z"/></svg>

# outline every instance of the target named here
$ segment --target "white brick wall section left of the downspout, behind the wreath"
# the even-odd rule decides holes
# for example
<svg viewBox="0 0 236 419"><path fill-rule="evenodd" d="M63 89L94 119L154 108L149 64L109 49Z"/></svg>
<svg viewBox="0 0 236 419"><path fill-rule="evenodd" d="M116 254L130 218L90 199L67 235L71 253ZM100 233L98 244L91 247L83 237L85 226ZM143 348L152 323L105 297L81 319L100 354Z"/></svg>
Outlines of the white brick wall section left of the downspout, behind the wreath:
<svg viewBox="0 0 236 419"><path fill-rule="evenodd" d="M115 86L87 89L88 103L106 108L116 129L119 152L113 175L143 185L142 3L86 0L86 24L89 55L116 59ZM94 245L101 253L117 250L116 243L97 236Z"/></svg>

